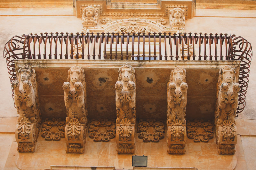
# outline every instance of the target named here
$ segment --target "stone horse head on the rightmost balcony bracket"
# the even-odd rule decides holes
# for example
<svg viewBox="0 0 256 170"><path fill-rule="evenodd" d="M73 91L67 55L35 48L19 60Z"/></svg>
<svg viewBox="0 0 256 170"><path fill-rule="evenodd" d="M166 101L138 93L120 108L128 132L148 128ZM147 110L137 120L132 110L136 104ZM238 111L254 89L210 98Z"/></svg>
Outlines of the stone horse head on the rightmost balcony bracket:
<svg viewBox="0 0 256 170"><path fill-rule="evenodd" d="M223 69L219 71L220 77L222 77L222 83L233 83L236 81L236 71L230 67L230 65L225 65Z"/></svg>

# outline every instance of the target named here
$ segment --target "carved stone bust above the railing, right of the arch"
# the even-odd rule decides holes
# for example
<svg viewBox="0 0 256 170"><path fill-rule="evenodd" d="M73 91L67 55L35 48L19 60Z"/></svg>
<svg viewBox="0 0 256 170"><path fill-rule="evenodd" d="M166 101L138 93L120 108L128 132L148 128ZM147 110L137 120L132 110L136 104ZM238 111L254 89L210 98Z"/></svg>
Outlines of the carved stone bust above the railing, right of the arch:
<svg viewBox="0 0 256 170"><path fill-rule="evenodd" d="M172 29L179 29L181 32L184 32L185 26L185 11L177 7L170 10L170 25Z"/></svg>

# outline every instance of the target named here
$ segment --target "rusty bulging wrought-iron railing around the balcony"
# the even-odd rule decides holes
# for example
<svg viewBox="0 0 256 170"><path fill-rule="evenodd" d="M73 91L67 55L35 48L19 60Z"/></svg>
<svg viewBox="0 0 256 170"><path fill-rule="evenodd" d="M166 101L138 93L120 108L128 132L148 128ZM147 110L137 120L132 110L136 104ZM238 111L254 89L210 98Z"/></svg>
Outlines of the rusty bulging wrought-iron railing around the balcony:
<svg viewBox="0 0 256 170"><path fill-rule="evenodd" d="M252 47L243 37L217 33L31 33L12 37L5 44L4 58L11 83L17 79L14 59L240 60L240 113L245 107Z"/></svg>

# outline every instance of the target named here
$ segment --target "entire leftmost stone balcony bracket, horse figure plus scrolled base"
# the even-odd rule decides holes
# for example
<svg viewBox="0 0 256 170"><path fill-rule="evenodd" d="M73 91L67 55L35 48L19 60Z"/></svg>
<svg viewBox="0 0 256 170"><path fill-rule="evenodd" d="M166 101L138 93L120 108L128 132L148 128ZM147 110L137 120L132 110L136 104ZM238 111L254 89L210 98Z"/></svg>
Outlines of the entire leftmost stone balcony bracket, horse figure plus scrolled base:
<svg viewBox="0 0 256 170"><path fill-rule="evenodd" d="M19 152L34 152L41 127L36 72L24 65L17 72L18 80L12 82L14 103L19 114L15 131Z"/></svg>

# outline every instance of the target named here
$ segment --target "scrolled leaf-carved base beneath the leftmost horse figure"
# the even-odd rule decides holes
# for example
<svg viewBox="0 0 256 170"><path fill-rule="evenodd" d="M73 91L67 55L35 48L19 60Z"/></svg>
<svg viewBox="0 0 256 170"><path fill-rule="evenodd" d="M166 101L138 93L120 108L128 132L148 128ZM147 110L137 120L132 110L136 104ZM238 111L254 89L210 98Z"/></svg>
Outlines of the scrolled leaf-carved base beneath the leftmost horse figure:
<svg viewBox="0 0 256 170"><path fill-rule="evenodd" d="M15 138L19 152L35 152L35 123L31 123L27 117L21 118L15 131Z"/></svg>

